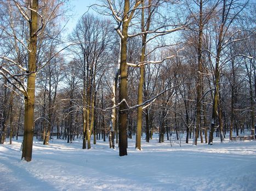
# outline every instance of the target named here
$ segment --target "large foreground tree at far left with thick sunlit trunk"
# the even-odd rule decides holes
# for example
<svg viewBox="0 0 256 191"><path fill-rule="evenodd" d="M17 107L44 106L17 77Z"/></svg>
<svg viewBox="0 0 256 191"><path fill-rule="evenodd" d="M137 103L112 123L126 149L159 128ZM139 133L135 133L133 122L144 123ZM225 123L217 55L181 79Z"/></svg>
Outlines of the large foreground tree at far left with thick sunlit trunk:
<svg viewBox="0 0 256 191"><path fill-rule="evenodd" d="M13 46L17 56L8 55L6 52L9 52L9 50L6 49L1 52L3 55L4 52L6 53L1 56L4 63L1 66L1 74L25 98L25 128L21 158L27 162L31 161L32 157L36 73L53 58L51 57L44 63L38 62L39 50L43 45L43 38L41 37L43 33L47 33L45 31L46 26L65 12L65 10L61 12L62 10L60 9L64 2L54 0L40 2L38 0L27 2L13 0L3 2L3 8L10 11L6 12L8 13L4 17L6 20L2 20L3 25L0 28L6 35L6 39L14 40L14 45L10 41L8 41L8 45ZM13 15L16 16L14 17ZM14 18L17 21L14 21ZM51 37L50 34L48 35ZM52 41L56 39L56 36L51 37ZM17 69L13 70L15 67Z"/></svg>

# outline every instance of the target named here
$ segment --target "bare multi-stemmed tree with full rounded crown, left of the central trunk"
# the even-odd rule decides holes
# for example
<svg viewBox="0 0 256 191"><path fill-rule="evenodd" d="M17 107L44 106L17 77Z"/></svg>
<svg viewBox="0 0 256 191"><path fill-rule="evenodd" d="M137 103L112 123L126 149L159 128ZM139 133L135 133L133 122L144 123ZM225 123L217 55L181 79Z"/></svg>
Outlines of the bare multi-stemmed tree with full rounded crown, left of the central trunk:
<svg viewBox="0 0 256 191"><path fill-rule="evenodd" d="M101 20L96 16L84 14L77 23L70 36L72 43L76 45L71 51L77 60L77 69L81 75L83 88L83 146L90 149L90 136L94 127L96 81L100 72L101 59L109 48L112 36L110 35L111 23L109 20ZM101 80L99 75L99 81ZM99 83L98 81L98 83Z"/></svg>

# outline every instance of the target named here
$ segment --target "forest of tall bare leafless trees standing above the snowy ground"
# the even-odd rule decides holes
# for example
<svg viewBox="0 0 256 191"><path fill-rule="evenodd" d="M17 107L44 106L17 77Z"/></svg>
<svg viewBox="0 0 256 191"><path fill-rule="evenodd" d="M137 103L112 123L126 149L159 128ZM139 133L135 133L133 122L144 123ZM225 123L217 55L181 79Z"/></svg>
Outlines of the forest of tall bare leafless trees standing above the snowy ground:
<svg viewBox="0 0 256 191"><path fill-rule="evenodd" d="M71 1L0 1L0 144L22 139L30 162L36 139L82 140L81 150L103 139L119 156L153 135L255 139L254 1L99 0L85 10L67 29Z"/></svg>

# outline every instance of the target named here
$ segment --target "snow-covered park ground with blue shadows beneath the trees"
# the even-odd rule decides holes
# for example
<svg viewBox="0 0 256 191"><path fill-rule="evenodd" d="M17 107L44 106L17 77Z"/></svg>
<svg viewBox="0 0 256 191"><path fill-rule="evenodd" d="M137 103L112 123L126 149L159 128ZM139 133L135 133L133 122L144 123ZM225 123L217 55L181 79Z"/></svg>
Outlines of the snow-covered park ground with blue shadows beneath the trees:
<svg viewBox="0 0 256 191"><path fill-rule="evenodd" d="M256 190L256 141L220 144L214 137L211 146L171 147L155 138L142 140L138 151L133 139L128 156L119 157L102 140L82 150L81 140L44 146L34 139L27 163L20 160L21 139L0 145L0 190Z"/></svg>

